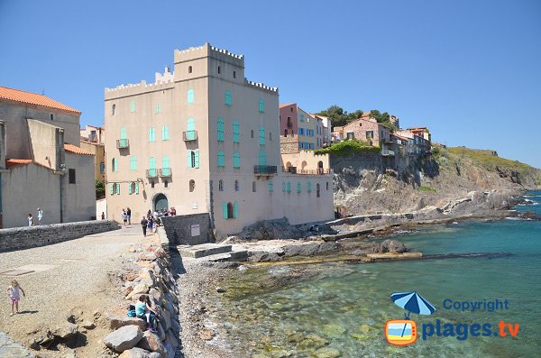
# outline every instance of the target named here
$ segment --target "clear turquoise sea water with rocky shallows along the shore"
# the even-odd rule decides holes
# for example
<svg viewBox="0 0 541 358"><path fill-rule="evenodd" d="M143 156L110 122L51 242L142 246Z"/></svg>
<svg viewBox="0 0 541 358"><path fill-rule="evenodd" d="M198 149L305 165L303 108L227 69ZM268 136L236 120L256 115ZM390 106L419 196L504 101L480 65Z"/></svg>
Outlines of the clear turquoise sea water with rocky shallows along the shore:
<svg viewBox="0 0 541 358"><path fill-rule="evenodd" d="M541 203L541 192L527 197ZM541 205L519 206L541 215ZM371 264L327 263L316 279L292 287L221 301L217 306L228 332L216 344L246 357L538 357L541 354L541 222L502 220L433 226L400 235L410 249L428 253L509 252L493 259L448 259ZM289 266L255 268L254 275L287 275ZM238 284L238 282L237 282ZM250 284L250 282L243 282ZM255 281L253 285L256 285ZM436 307L432 316L411 314L423 324L491 324L490 336L430 336L405 347L387 343L388 319L403 318L390 294L417 291ZM445 309L444 300L508 300L509 309ZM493 335L500 320L519 324L515 337ZM427 326L426 326L427 327ZM482 331L481 331L482 332ZM315 355L316 354L316 355ZM329 355L325 355L329 354Z"/></svg>

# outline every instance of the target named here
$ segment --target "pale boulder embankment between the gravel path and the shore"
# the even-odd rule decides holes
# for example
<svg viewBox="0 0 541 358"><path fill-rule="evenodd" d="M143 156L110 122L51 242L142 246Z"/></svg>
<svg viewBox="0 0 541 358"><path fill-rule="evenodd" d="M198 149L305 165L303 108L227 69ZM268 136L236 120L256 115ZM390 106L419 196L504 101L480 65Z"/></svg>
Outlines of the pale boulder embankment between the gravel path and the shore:
<svg viewBox="0 0 541 358"><path fill-rule="evenodd" d="M179 290L171 273L169 254L155 245L131 247L133 260L120 275L126 311L105 313L100 323L112 332L103 339L102 357L173 358L180 346ZM157 330L147 328L147 322L127 317L129 305L135 305L142 295L151 300L157 312Z"/></svg>

